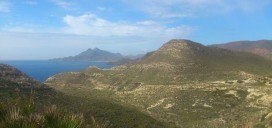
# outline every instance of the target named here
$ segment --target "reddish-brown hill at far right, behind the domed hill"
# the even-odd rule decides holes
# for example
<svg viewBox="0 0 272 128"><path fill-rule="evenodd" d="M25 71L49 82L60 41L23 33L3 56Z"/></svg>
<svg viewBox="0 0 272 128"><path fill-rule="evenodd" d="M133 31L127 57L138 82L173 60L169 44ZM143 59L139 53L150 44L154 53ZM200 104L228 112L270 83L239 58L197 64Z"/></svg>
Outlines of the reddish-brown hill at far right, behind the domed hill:
<svg viewBox="0 0 272 128"><path fill-rule="evenodd" d="M250 52L260 56L272 58L272 40L236 41L211 46L234 51Z"/></svg>

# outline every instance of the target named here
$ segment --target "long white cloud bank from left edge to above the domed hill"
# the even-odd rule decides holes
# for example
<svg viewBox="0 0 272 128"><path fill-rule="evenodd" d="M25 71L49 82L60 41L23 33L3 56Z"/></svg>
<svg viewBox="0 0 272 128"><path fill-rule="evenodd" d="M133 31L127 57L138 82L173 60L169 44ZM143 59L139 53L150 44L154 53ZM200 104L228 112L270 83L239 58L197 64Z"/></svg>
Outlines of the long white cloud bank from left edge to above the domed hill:
<svg viewBox="0 0 272 128"><path fill-rule="evenodd" d="M48 28L34 24L18 24L5 26L0 30L6 32L21 33L58 33L75 34L82 36L96 37L139 37L142 39L162 39L187 38L194 32L194 27L179 25L169 27L153 20L138 21L128 23L124 21L112 22L98 17L95 14L87 13L80 16L66 15L63 17L65 27Z"/></svg>

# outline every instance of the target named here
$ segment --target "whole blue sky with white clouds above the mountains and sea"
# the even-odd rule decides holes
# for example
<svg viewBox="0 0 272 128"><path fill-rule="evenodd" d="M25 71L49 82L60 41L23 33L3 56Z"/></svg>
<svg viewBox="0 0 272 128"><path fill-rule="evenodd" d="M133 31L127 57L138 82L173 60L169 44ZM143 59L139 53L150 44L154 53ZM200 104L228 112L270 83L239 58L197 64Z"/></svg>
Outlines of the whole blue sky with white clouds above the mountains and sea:
<svg viewBox="0 0 272 128"><path fill-rule="evenodd" d="M0 60L272 39L272 0L0 0Z"/></svg>

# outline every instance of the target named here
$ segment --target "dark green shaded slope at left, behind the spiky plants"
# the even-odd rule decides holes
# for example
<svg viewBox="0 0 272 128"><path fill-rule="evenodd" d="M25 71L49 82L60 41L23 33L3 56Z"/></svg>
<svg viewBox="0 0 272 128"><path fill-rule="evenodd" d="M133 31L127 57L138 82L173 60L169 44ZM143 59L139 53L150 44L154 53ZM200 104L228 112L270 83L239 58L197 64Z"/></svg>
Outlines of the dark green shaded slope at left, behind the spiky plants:
<svg viewBox="0 0 272 128"><path fill-rule="evenodd" d="M84 116L82 127L91 123L92 117L96 119L97 123L108 122L109 128L167 127L166 124L161 123L132 107L118 105L108 100L86 99L83 97L65 95L52 88L43 86L41 83L34 81L14 67L0 64L0 127L3 127L3 121L5 121L3 120L3 115L5 115L5 113L3 113L3 107L7 107L7 110L16 108L18 109L17 114L25 114L25 112L29 113L29 111L43 113L44 108L50 108L55 105L60 111L60 114L67 112L70 112L72 115L73 113L82 113ZM25 116L28 117L27 115ZM74 116L74 118L76 117ZM33 119L38 118L33 117L30 119L30 121L32 121ZM11 120L9 119L9 121ZM13 127L18 127L20 120L17 120L16 122L17 125ZM33 125L31 127L33 127Z"/></svg>

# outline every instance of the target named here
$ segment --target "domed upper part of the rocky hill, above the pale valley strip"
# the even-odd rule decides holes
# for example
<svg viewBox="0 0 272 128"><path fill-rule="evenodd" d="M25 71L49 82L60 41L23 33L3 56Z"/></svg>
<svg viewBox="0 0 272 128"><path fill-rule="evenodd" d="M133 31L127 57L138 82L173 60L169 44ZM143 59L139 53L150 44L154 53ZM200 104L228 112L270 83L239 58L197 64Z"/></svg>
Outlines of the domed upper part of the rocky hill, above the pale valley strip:
<svg viewBox="0 0 272 128"><path fill-rule="evenodd" d="M77 82L84 81L89 78L89 73L100 73L91 78L113 86L137 83L169 85L244 79L241 72L270 75L271 70L271 61L254 54L206 47L188 40L171 40L137 62L111 70L90 68L75 79ZM67 81L71 83L71 80Z"/></svg>

